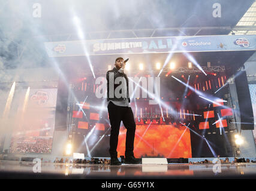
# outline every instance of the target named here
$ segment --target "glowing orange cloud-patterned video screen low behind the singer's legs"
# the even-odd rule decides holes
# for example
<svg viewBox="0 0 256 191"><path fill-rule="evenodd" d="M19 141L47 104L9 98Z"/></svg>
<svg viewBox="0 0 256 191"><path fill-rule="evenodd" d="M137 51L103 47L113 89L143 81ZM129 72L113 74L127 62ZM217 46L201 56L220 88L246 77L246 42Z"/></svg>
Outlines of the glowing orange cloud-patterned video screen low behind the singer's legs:
<svg viewBox="0 0 256 191"><path fill-rule="evenodd" d="M125 155L126 131L124 127L121 128L118 156ZM189 129L183 125L137 125L134 155L137 158L191 158Z"/></svg>

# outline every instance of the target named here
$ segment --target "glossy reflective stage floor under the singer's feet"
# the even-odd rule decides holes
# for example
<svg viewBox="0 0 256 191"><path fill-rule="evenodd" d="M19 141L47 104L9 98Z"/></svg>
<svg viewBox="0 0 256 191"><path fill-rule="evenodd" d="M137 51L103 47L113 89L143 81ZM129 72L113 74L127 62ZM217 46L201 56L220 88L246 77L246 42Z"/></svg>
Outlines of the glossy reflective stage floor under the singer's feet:
<svg viewBox="0 0 256 191"><path fill-rule="evenodd" d="M215 164L123 164L110 166L0 161L0 178L256 178L256 164L230 163L218 166Z"/></svg>

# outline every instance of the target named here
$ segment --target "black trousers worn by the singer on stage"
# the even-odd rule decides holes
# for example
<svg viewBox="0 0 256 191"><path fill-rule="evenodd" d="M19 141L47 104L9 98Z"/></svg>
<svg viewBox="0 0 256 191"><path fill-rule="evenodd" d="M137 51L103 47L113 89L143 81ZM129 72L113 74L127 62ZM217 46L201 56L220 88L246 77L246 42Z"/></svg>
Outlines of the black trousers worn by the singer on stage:
<svg viewBox="0 0 256 191"><path fill-rule="evenodd" d="M127 128L127 137L125 141L125 157L134 156L133 149L136 124L134 121L131 107L116 106L112 103L112 101L110 101L107 109L109 111L109 119L111 125L109 149L110 156L112 158L116 158L118 156L118 152L116 152L116 149L118 147L118 135L121 121L123 121L125 128Z"/></svg>

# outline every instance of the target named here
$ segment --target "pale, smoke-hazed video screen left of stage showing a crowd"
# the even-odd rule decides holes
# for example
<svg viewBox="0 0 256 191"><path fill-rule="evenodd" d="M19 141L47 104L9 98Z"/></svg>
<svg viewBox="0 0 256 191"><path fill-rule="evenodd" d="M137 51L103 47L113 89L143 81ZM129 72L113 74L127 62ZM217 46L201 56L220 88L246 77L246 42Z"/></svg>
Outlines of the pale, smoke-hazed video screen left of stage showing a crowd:
<svg viewBox="0 0 256 191"><path fill-rule="evenodd" d="M20 90L11 153L51 153L57 88ZM13 114L14 115L14 114Z"/></svg>

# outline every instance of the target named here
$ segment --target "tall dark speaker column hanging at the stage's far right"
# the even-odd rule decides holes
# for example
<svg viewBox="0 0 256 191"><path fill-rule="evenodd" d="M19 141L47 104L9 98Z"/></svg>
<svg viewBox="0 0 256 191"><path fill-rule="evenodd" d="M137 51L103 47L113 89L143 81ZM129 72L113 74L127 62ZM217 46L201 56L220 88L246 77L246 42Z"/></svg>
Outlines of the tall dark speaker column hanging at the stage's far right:
<svg viewBox="0 0 256 191"><path fill-rule="evenodd" d="M236 76L235 83L239 101L241 129L254 130L254 113L252 111L252 101L245 71Z"/></svg>

